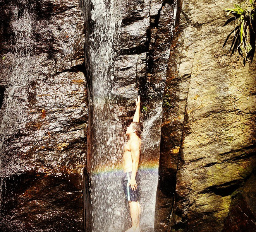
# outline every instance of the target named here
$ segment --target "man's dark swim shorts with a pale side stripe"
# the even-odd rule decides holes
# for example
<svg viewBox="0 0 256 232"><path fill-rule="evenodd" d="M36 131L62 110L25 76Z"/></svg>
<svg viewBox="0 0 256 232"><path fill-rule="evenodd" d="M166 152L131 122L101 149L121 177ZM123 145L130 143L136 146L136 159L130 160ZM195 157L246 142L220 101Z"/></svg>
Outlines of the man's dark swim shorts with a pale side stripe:
<svg viewBox="0 0 256 232"><path fill-rule="evenodd" d="M132 172L124 172L124 176L122 177L122 186L124 188L124 193L127 201L138 201L139 200L139 186L140 186L140 174L137 171L136 173L136 183L137 189L135 191L132 190L131 185L127 186L128 181L131 179Z"/></svg>

